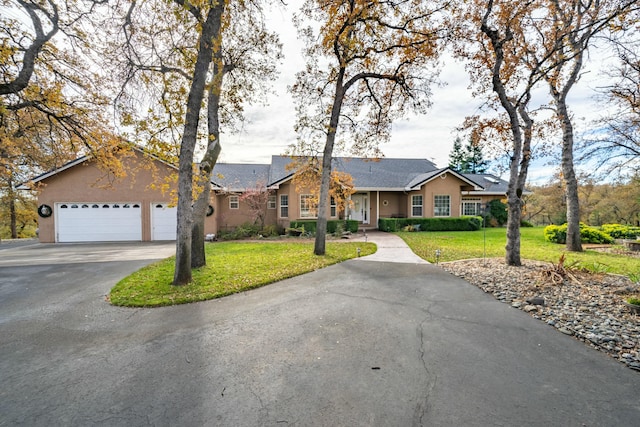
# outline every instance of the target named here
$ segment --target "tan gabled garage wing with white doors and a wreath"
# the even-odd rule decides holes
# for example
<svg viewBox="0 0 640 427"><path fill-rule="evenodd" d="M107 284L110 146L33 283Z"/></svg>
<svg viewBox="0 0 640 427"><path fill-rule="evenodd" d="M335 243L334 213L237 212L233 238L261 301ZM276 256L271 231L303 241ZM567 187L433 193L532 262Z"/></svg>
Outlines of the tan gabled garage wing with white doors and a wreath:
<svg viewBox="0 0 640 427"><path fill-rule="evenodd" d="M123 151L119 159L123 177L114 177L94 158L84 156L19 187L38 192L40 242L176 239L171 190L177 168L137 148ZM211 215L205 230L214 233L215 229Z"/></svg>

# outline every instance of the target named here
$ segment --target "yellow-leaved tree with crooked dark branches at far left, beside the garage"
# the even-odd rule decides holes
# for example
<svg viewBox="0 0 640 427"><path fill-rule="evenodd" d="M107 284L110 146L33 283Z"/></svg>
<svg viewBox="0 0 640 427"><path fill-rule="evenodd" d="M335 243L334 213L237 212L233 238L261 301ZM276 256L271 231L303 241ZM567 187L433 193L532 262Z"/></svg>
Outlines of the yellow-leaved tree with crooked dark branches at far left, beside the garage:
<svg viewBox="0 0 640 427"><path fill-rule="evenodd" d="M92 66L98 0L0 3L0 192L17 236L24 205L14 186L80 154L119 175L120 146L106 111L100 70ZM26 199L22 200L24 202Z"/></svg>

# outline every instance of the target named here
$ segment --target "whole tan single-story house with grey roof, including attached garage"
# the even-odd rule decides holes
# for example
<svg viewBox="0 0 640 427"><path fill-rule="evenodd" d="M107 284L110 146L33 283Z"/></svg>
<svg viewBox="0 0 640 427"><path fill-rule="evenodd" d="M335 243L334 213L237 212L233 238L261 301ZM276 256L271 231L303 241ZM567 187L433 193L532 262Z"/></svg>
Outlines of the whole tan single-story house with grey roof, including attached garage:
<svg viewBox="0 0 640 427"><path fill-rule="evenodd" d="M121 178L110 178L85 156L21 186L38 190L40 241L175 240L171 177L176 167L138 149L122 162L126 175ZM292 183L295 171L287 167L291 162L287 156L272 156L270 164L217 164L205 232L254 222L255 212L242 195L257 188L269 191L265 224L285 228L292 220L315 218L310 192ZM344 217L365 228L376 228L384 217L476 215L483 204L503 198L507 191L507 183L494 175L462 174L425 159L338 157L334 169L353 178L355 193ZM329 219L337 219L339 212L330 203Z"/></svg>

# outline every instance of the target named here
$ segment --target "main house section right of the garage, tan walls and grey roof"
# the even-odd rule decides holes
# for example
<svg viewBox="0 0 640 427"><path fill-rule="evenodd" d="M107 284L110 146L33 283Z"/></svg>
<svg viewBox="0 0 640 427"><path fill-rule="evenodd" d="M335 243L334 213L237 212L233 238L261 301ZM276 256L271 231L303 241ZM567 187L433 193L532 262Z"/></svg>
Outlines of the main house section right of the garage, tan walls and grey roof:
<svg viewBox="0 0 640 427"><path fill-rule="evenodd" d="M295 171L287 167L292 161L272 156L268 165L217 164L212 181L219 229L253 222L242 194L259 187L269 191L265 224L286 228L294 220L317 218L311 192L292 182ZM380 218L479 215L486 203L503 198L507 191L507 183L493 175L438 169L425 159L339 157L333 167L353 178L355 193L344 216L362 228L377 228ZM339 212L331 200L327 218L339 219Z"/></svg>

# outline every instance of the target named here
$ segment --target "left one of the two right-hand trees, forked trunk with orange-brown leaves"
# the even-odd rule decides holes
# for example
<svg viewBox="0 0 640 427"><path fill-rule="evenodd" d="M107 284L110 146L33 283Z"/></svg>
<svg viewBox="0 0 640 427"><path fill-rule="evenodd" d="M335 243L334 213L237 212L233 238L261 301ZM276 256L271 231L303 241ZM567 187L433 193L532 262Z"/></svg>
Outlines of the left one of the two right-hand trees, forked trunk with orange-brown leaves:
<svg viewBox="0 0 640 427"><path fill-rule="evenodd" d="M507 245L505 261L521 265L520 221L524 186L532 156L534 118L530 112L532 91L541 78L528 69L526 33L535 2L477 0L458 10L460 43L456 53L467 61L475 95L489 108L504 113L494 118L470 117L466 127L475 143L502 141L508 153Z"/></svg>

